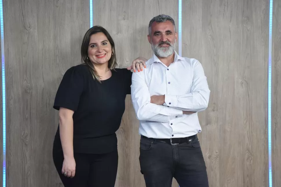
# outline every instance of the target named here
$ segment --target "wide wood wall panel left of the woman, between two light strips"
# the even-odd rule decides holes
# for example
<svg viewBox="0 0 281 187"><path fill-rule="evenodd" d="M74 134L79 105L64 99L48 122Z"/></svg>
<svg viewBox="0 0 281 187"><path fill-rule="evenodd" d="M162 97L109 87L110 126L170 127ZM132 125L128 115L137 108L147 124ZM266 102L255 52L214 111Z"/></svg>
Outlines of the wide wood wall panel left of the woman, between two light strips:
<svg viewBox="0 0 281 187"><path fill-rule="evenodd" d="M8 186L62 186L52 160L52 106L70 66L81 62L88 1L4 1Z"/></svg>

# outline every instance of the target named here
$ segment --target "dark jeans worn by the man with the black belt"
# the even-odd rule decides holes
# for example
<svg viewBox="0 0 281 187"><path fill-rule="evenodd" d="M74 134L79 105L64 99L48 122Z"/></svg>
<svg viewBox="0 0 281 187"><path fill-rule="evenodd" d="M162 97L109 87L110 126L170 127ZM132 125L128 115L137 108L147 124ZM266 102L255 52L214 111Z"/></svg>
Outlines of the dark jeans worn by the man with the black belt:
<svg viewBox="0 0 281 187"><path fill-rule="evenodd" d="M197 136L178 145L141 136L139 159L146 187L171 187L173 177L180 187L209 186Z"/></svg>

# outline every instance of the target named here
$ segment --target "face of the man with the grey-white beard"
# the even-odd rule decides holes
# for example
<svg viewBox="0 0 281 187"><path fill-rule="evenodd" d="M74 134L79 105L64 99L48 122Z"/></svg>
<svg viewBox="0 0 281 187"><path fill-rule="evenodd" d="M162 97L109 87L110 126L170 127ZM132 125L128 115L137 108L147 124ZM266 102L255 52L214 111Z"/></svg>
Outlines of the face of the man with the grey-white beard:
<svg viewBox="0 0 281 187"><path fill-rule="evenodd" d="M154 21L151 26L151 36L147 36L152 50L156 56L166 58L174 53L178 33L170 21L157 23Z"/></svg>

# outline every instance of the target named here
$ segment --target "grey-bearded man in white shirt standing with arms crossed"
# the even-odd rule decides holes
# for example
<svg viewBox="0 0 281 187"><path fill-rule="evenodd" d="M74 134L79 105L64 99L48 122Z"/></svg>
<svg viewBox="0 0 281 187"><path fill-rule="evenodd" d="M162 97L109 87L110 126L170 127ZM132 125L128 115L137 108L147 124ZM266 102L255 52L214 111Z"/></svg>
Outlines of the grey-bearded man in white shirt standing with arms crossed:
<svg viewBox="0 0 281 187"><path fill-rule="evenodd" d="M131 96L140 121L140 169L147 187L208 187L198 141L197 112L205 110L210 90L202 65L175 52L174 20L158 15L147 36L154 55L146 69L133 73Z"/></svg>

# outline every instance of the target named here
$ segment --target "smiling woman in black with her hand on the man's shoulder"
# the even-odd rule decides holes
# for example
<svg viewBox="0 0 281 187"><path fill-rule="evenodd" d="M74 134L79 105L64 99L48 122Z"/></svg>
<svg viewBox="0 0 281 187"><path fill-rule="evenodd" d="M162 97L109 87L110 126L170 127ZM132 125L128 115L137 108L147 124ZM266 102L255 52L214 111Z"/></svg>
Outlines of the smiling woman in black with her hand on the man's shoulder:
<svg viewBox="0 0 281 187"><path fill-rule="evenodd" d="M139 61L146 59L137 58L127 69L115 68L114 41L100 26L86 32L81 55L84 63L66 71L56 93L59 127L53 160L65 187L113 187L118 166L115 132L125 97L131 94L129 70L142 71Z"/></svg>

